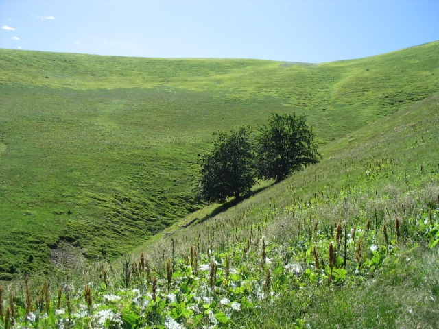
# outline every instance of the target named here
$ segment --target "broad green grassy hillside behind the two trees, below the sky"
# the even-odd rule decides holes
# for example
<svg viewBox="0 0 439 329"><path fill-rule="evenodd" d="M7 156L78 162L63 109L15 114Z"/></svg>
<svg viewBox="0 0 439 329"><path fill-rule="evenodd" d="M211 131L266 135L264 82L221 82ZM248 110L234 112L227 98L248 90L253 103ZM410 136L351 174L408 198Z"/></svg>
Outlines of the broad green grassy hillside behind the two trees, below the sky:
<svg viewBox="0 0 439 329"><path fill-rule="evenodd" d="M2 278L45 267L60 239L128 252L200 208L216 130L307 113L325 145L433 95L438 50L300 64L0 49Z"/></svg>

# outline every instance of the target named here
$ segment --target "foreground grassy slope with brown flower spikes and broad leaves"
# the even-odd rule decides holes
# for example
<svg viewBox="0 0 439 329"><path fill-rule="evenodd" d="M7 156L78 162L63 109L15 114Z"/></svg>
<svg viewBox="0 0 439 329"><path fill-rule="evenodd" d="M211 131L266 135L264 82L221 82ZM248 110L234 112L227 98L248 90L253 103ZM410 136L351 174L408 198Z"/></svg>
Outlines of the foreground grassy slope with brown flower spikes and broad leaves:
<svg viewBox="0 0 439 329"><path fill-rule="evenodd" d="M55 269L46 286L44 274L16 280L4 304L17 323L48 328L435 328L438 132L436 93L119 264Z"/></svg>

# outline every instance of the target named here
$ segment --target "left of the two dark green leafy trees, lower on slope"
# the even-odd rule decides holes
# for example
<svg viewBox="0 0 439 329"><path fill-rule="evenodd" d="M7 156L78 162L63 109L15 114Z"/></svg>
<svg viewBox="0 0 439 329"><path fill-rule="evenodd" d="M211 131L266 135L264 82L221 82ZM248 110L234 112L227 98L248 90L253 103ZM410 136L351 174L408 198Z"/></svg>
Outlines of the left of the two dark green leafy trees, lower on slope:
<svg viewBox="0 0 439 329"><path fill-rule="evenodd" d="M248 127L217 132L213 149L200 159L198 196L206 202L239 199L255 182L252 133Z"/></svg>

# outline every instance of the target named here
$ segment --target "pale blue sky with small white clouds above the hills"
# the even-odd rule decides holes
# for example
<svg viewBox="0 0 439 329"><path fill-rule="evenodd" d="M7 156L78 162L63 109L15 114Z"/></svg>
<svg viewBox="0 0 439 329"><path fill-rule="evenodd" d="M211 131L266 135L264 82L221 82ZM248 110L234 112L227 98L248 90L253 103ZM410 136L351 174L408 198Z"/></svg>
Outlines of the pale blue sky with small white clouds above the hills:
<svg viewBox="0 0 439 329"><path fill-rule="evenodd" d="M438 0L0 0L8 49L328 62L435 40Z"/></svg>

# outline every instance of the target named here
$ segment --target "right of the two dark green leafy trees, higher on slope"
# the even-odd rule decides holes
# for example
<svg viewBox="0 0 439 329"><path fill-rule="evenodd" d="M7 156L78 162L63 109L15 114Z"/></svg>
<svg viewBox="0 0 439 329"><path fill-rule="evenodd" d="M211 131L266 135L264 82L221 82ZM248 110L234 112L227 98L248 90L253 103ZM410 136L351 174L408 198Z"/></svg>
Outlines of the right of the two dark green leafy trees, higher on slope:
<svg viewBox="0 0 439 329"><path fill-rule="evenodd" d="M294 171L316 164L321 158L305 114L273 113L268 127L259 126L256 140L256 172L259 179L281 182Z"/></svg>

